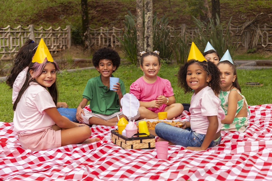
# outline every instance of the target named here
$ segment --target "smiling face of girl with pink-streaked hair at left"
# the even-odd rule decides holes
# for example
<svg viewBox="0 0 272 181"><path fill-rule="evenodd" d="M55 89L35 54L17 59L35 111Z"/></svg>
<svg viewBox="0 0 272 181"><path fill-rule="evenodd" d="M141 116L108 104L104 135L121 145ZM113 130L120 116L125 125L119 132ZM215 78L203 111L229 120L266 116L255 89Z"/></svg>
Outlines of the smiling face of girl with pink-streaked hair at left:
<svg viewBox="0 0 272 181"><path fill-rule="evenodd" d="M34 71L30 69L30 75L33 77ZM35 80L43 87L50 87L56 81L56 68L53 63L47 63L42 70L41 75L35 78Z"/></svg>

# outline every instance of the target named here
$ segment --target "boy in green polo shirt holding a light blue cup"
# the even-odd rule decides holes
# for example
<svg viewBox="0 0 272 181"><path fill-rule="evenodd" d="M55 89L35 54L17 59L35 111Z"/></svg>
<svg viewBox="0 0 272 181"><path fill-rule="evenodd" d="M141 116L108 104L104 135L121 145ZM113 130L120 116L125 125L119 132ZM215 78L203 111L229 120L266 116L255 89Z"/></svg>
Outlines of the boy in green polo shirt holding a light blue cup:
<svg viewBox="0 0 272 181"><path fill-rule="evenodd" d="M94 53L92 63L100 75L87 82L83 99L76 110L76 119L88 125L114 126L118 122L117 115L119 118L126 118L120 111L120 100L126 93L124 82L119 79L113 88L116 90L109 89L110 77L113 77L112 72L120 65L120 56L115 50L104 47ZM83 109L88 101L90 101L91 112ZM138 113L131 119L137 120L139 117Z"/></svg>

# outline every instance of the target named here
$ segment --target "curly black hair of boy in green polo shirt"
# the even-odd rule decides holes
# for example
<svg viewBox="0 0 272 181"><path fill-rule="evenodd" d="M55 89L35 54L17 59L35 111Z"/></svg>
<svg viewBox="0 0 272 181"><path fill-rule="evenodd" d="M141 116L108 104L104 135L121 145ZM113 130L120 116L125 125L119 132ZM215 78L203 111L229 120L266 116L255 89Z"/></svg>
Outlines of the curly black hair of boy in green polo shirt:
<svg viewBox="0 0 272 181"><path fill-rule="evenodd" d="M100 48L92 55L92 63L95 67L99 66L99 61L102 59L108 59L112 61L113 66L116 66L116 69L113 70L113 72L115 72L120 65L120 56L113 49L109 49L106 47Z"/></svg>

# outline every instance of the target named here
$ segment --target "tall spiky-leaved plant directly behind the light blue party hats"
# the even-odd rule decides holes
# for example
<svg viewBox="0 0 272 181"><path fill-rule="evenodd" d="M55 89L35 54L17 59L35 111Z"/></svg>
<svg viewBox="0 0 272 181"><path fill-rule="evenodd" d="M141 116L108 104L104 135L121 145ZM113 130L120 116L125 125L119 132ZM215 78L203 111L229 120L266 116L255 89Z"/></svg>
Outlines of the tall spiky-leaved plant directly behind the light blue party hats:
<svg viewBox="0 0 272 181"><path fill-rule="evenodd" d="M230 51L231 56L233 56L233 53L237 50L237 46L233 44L233 37L230 34L230 22L232 17L227 24L225 22L220 23L218 15L216 15L216 24L211 18L205 23L195 17L193 18L197 27L197 39L194 41L197 43L200 50L204 50L209 41L221 57L227 49Z"/></svg>

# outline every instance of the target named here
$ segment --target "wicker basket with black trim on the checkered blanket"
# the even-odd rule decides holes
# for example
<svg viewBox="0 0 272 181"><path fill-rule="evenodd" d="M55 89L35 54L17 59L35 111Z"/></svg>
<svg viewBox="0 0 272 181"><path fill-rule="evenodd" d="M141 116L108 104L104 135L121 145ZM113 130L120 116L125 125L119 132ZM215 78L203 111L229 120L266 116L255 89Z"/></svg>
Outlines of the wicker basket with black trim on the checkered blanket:
<svg viewBox="0 0 272 181"><path fill-rule="evenodd" d="M128 138L118 133L118 130L112 130L112 141L114 144L124 149L153 149L155 148L155 136L150 134L147 136L139 137L138 135L146 135L144 133L137 133Z"/></svg>

